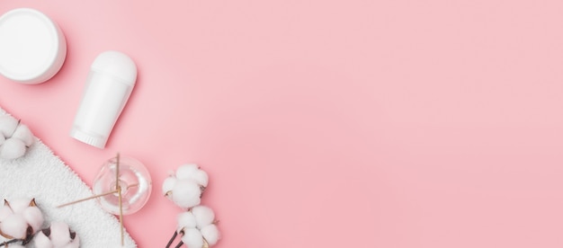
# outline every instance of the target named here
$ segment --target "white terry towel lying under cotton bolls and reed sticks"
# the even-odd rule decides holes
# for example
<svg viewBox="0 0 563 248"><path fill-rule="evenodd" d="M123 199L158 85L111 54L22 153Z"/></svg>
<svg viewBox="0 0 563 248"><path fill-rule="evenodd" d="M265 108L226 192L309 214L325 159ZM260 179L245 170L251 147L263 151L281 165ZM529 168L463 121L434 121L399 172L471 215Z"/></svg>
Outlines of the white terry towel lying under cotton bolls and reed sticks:
<svg viewBox="0 0 563 248"><path fill-rule="evenodd" d="M0 108L0 116L5 114ZM22 157L13 161L0 158L0 200L35 198L45 217L43 227L52 221L63 221L80 237L80 247L119 247L119 220L100 208L94 199L56 208L92 195L85 182L37 138ZM28 247L33 247L32 242ZM127 233L125 247L137 247Z"/></svg>

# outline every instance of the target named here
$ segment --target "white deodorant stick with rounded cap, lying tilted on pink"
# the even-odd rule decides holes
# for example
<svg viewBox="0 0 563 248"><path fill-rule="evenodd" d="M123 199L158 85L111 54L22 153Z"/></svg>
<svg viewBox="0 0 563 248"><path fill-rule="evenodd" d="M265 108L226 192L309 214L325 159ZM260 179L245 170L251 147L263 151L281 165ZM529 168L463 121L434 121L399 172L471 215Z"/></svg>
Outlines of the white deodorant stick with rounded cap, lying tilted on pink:
<svg viewBox="0 0 563 248"><path fill-rule="evenodd" d="M90 146L105 147L136 79L137 67L127 55L105 51L95 58L70 136Z"/></svg>

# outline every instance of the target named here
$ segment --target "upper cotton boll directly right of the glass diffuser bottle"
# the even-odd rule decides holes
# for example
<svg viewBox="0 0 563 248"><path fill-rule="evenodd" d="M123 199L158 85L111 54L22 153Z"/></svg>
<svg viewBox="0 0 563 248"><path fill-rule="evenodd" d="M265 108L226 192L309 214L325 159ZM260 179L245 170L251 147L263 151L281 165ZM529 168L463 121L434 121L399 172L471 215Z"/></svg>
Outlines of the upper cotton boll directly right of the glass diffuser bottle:
<svg viewBox="0 0 563 248"><path fill-rule="evenodd" d="M165 179L162 191L180 208L192 208L201 203L201 193L207 187L207 173L197 164L183 164Z"/></svg>

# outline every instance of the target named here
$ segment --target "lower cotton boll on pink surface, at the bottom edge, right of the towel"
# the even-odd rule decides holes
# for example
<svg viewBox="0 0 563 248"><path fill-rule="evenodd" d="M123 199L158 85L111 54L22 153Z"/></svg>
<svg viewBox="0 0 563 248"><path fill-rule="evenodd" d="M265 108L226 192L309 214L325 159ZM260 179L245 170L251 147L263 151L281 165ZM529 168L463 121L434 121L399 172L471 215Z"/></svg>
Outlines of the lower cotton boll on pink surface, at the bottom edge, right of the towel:
<svg viewBox="0 0 563 248"><path fill-rule="evenodd" d="M215 223L213 210L200 205L178 215L177 232L189 248L208 248L219 241Z"/></svg>

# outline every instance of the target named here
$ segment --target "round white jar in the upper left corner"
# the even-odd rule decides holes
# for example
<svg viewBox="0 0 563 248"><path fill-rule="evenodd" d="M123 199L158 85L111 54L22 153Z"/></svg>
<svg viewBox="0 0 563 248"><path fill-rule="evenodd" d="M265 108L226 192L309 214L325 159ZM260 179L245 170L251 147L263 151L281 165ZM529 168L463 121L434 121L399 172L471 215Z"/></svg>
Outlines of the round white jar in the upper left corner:
<svg viewBox="0 0 563 248"><path fill-rule="evenodd" d="M63 65L67 41L57 23L35 9L0 16L0 75L21 84L40 84Z"/></svg>

